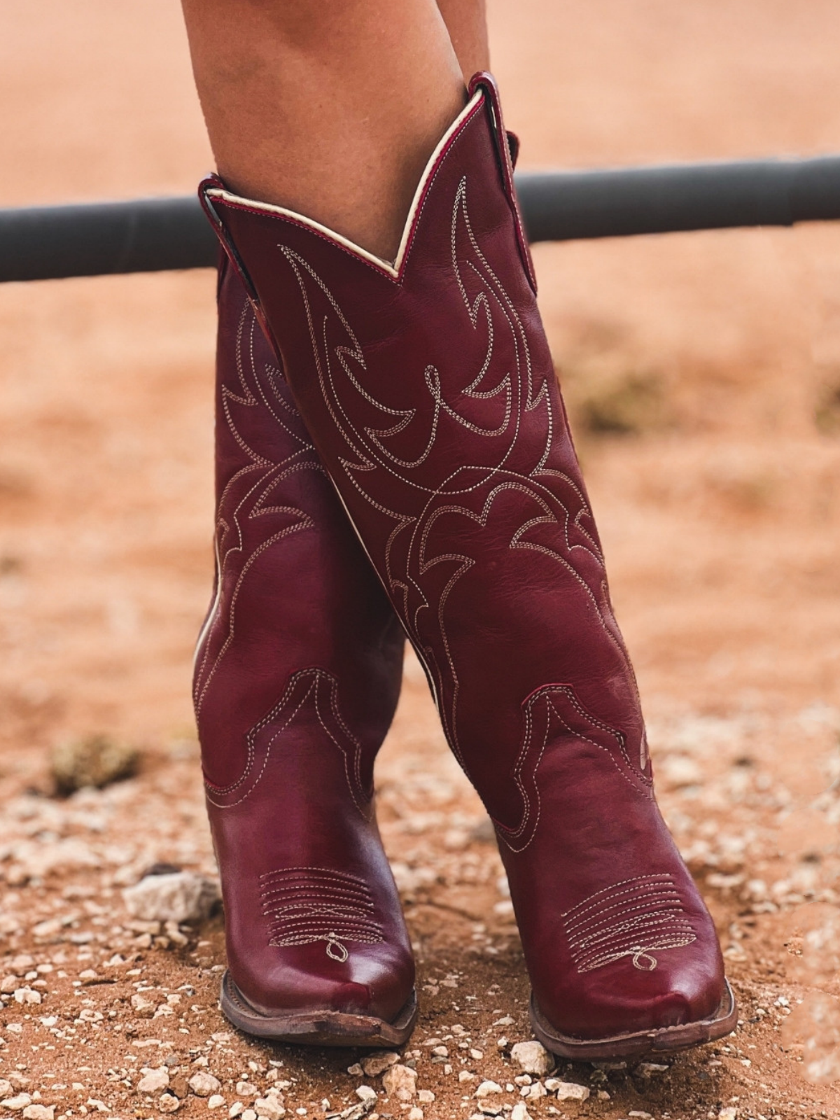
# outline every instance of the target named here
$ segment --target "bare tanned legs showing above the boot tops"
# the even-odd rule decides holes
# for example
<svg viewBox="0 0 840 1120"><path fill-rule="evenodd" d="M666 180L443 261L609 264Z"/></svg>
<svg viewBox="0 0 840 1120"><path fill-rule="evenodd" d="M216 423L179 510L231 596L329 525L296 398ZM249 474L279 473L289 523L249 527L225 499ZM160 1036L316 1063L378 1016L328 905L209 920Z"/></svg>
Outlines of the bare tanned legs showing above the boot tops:
<svg viewBox="0 0 840 1120"><path fill-rule="evenodd" d="M393 260L417 184L486 68L484 0L183 0L216 167L245 197Z"/></svg>

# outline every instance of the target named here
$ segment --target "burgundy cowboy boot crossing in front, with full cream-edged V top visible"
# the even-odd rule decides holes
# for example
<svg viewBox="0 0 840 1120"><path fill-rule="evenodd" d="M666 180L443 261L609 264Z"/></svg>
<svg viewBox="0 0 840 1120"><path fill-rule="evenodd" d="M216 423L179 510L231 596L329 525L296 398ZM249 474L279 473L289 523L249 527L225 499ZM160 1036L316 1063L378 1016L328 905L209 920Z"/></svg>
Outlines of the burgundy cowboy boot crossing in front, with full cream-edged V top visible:
<svg viewBox="0 0 840 1120"><path fill-rule="evenodd" d="M727 1034L735 1001L653 795L492 77L432 155L393 264L218 179L202 195L495 823L538 1037L608 1058Z"/></svg>

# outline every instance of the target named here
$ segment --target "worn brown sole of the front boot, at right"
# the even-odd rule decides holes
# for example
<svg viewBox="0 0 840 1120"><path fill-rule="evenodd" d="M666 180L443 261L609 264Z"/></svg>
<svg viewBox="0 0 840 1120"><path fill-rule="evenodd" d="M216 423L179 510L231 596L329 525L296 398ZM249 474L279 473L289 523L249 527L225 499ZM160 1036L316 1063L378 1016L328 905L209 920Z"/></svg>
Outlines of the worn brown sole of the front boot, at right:
<svg viewBox="0 0 840 1120"><path fill-rule="evenodd" d="M674 1051L700 1046L731 1034L738 1024L738 1005L729 981L726 995L715 1015L697 1023L684 1023L678 1027L660 1027L656 1030L638 1030L612 1038L572 1038L559 1034L545 1019L531 995L531 1026L542 1045L560 1057L576 1062L598 1062L614 1058L644 1057L647 1054L670 1054Z"/></svg>

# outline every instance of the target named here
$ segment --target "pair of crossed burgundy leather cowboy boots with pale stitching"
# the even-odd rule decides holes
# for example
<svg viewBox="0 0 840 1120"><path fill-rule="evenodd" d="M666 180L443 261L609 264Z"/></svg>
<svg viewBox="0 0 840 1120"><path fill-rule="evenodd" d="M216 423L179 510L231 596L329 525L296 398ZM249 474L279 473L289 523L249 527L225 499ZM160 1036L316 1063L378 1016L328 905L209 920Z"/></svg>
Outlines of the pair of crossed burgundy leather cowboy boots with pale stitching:
<svg viewBox="0 0 840 1120"><path fill-rule="evenodd" d="M495 825L536 1037L594 1060L727 1034L735 1001L654 799L492 77L429 160L394 262L215 177L200 196L227 254L195 678L223 1010L286 1040L412 1029L372 801L404 632Z"/></svg>

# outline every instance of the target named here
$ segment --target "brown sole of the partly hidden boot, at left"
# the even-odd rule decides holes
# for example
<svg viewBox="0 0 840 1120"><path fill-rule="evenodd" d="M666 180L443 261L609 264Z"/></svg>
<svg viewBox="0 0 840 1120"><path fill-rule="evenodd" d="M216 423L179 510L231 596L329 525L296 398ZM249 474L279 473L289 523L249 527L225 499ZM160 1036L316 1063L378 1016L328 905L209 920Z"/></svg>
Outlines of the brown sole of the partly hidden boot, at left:
<svg viewBox="0 0 840 1120"><path fill-rule="evenodd" d="M414 1029L418 1015L417 992L393 1020L346 1011L287 1011L265 1015L252 1007L234 983L231 973L222 977L222 1012L234 1027L258 1038L299 1046L402 1046Z"/></svg>

